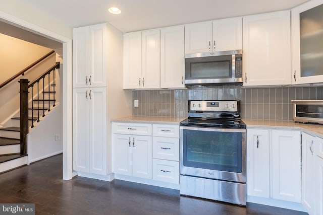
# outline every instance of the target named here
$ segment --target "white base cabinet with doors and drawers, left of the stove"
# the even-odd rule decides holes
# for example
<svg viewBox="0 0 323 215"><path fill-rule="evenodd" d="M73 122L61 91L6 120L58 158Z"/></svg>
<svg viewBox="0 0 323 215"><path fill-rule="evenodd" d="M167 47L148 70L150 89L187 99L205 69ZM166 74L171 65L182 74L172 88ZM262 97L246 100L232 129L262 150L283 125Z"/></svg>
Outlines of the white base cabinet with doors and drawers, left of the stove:
<svg viewBox="0 0 323 215"><path fill-rule="evenodd" d="M115 174L179 185L179 125L113 122L112 128Z"/></svg>

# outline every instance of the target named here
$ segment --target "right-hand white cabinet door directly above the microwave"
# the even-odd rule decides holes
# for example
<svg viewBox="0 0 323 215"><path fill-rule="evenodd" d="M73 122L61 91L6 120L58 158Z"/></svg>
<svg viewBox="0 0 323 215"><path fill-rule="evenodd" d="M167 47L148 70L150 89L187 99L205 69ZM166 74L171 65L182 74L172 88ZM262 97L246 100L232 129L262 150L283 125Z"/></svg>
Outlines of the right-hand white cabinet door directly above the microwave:
<svg viewBox="0 0 323 215"><path fill-rule="evenodd" d="M212 22L212 50L242 49L242 18L230 18Z"/></svg>

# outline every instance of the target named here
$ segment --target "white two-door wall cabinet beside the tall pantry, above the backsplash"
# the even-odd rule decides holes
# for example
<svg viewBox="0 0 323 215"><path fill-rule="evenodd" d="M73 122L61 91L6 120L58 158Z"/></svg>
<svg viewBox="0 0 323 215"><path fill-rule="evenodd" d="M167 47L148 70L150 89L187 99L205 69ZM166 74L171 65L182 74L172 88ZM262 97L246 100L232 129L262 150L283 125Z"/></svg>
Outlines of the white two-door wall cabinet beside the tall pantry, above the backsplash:
<svg viewBox="0 0 323 215"><path fill-rule="evenodd" d="M160 87L160 31L137 31L123 35L124 89Z"/></svg>

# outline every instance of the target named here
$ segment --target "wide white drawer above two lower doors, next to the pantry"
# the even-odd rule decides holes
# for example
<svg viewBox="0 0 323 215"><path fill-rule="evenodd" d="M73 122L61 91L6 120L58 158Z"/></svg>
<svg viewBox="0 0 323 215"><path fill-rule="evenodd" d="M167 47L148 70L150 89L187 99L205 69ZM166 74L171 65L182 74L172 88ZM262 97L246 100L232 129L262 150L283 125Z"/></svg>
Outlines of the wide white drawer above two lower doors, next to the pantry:
<svg viewBox="0 0 323 215"><path fill-rule="evenodd" d="M112 123L113 133L151 135L151 124L146 123Z"/></svg>

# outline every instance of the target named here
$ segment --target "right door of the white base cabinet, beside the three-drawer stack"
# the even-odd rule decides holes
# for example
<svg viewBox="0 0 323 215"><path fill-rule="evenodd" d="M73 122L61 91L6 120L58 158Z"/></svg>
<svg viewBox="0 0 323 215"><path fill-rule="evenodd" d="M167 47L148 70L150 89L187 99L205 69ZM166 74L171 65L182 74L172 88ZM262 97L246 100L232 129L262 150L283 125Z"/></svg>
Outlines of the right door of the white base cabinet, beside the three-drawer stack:
<svg viewBox="0 0 323 215"><path fill-rule="evenodd" d="M151 136L132 135L132 176L152 179Z"/></svg>

